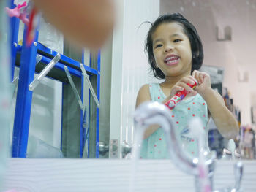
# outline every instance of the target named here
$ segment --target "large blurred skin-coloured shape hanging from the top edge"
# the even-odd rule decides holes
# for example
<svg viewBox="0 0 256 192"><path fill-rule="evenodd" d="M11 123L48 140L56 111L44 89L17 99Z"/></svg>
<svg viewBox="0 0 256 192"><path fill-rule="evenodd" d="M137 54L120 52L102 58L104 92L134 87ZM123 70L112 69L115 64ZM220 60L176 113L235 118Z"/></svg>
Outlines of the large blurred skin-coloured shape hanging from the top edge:
<svg viewBox="0 0 256 192"><path fill-rule="evenodd" d="M44 18L78 45L99 48L112 32L112 0L33 0Z"/></svg>

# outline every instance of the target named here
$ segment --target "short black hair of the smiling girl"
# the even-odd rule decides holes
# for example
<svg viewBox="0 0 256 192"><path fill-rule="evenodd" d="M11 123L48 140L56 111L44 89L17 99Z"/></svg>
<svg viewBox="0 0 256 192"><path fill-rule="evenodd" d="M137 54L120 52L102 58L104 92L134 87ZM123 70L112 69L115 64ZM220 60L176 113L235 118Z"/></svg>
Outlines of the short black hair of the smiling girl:
<svg viewBox="0 0 256 192"><path fill-rule="evenodd" d="M189 38L191 52L192 52L192 70L191 74L194 70L200 69L203 64L203 45L199 35L197 34L197 30L195 26L192 25L183 15L180 13L173 13L167 15L160 15L154 23L151 23L151 28L148 31L148 35L146 38L146 46L145 50L148 53L148 61L151 65L151 70L153 71L154 77L158 79L165 79L165 74L157 67L157 64L154 59L153 54L153 42L152 42L152 34L156 31L157 27L162 23L172 23L177 22L181 23L181 26L184 29L184 34Z"/></svg>

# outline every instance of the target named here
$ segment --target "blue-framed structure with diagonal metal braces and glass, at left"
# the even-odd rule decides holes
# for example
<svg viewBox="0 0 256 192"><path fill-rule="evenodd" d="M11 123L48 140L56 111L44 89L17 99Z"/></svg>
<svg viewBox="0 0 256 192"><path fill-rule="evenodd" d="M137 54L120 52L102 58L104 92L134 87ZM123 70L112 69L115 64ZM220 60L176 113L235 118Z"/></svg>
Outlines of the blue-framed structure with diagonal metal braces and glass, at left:
<svg viewBox="0 0 256 192"><path fill-rule="evenodd" d="M23 23L12 28L18 32L17 54L12 55L16 60L12 71L12 157L95 158L99 156L99 110L94 98L100 93L100 55L64 42L59 31L44 18L40 21L34 54L23 52ZM51 59L57 53L61 53L61 60L53 63ZM30 66L22 68L22 62L33 66L36 56L40 59L34 70ZM50 64L54 67L46 72ZM80 64L84 64L86 74ZM106 77L108 72L102 80ZM28 78L39 82L34 90L26 89L30 86Z"/></svg>

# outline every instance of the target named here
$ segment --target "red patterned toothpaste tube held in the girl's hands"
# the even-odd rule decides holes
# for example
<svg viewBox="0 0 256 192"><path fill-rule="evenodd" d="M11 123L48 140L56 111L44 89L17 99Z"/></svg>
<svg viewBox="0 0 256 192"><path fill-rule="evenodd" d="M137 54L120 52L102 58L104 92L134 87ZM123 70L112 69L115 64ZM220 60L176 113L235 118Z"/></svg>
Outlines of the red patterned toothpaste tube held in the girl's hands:
<svg viewBox="0 0 256 192"><path fill-rule="evenodd" d="M195 80L193 84L189 84L187 83L187 85L189 85L190 88L195 88L197 86L197 81ZM180 102L182 99L184 99L185 96L187 96L187 93L189 93L187 90L183 90L183 91L178 91L173 98L171 98L169 101L167 101L165 103L165 105L170 109L173 110L173 108L176 106L176 104L178 104L178 102Z"/></svg>

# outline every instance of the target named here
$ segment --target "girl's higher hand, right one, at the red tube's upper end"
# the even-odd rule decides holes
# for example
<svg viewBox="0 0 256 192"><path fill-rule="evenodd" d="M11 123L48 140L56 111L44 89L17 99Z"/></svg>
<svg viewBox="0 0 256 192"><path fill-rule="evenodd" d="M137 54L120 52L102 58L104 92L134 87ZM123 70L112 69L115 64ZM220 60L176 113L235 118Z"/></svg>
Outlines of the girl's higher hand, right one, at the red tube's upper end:
<svg viewBox="0 0 256 192"><path fill-rule="evenodd" d="M203 91L206 91L208 88L211 88L211 78L210 75L206 72L199 72L195 70L192 73L192 77L195 77L198 83L197 87L195 88L195 91L197 91L201 95L203 94Z"/></svg>

